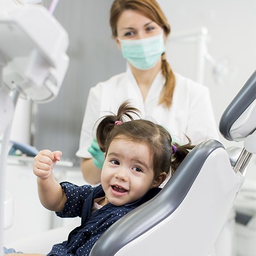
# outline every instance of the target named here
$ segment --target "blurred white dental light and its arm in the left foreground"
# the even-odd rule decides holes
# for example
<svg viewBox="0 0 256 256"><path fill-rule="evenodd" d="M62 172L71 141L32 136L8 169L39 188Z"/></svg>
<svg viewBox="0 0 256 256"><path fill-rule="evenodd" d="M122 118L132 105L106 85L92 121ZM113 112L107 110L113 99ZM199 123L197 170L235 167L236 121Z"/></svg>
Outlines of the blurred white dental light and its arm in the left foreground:
<svg viewBox="0 0 256 256"><path fill-rule="evenodd" d="M69 65L69 37L42 5L0 0L0 255L10 126L19 97L46 103L59 92Z"/></svg>

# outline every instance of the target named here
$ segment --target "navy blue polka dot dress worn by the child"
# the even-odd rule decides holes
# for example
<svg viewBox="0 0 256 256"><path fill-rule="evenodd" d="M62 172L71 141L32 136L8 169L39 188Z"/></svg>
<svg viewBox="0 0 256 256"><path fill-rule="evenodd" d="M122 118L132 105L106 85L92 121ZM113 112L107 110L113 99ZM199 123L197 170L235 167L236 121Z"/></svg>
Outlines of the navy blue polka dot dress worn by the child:
<svg viewBox="0 0 256 256"><path fill-rule="evenodd" d="M123 206L108 203L91 214L93 200L105 196L101 185L97 187L76 186L69 182L62 182L61 186L67 201L63 210L56 214L59 217L80 216L81 225L70 232L67 241L54 245L47 255L89 255L92 246L106 229L127 212L150 200L160 191L159 188L151 189L143 198Z"/></svg>

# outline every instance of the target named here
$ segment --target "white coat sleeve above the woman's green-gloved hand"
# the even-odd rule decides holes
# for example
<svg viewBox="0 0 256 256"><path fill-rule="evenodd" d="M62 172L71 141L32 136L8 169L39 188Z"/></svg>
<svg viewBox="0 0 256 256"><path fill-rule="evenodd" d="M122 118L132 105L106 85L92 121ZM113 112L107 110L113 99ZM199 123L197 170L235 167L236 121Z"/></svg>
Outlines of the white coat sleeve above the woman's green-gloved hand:
<svg viewBox="0 0 256 256"><path fill-rule="evenodd" d="M83 124L80 133L79 150L76 156L91 158L88 147L91 146L95 136L96 122L100 118L101 89L99 86L92 87L89 91L86 110L84 112Z"/></svg>

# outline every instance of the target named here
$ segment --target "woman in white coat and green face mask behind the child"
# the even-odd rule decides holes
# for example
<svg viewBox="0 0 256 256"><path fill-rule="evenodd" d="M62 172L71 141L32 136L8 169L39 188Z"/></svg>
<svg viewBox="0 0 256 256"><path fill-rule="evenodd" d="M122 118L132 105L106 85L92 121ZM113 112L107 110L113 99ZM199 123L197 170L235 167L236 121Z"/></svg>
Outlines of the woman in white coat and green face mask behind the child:
<svg viewBox="0 0 256 256"><path fill-rule="evenodd" d="M83 176L100 181L104 154L94 138L95 123L107 112L117 113L125 100L167 127L174 141L192 144L219 139L208 88L174 74L165 59L170 26L155 0L115 0L110 10L112 36L126 58L126 72L97 84L89 91L79 150ZM89 149L88 149L89 148Z"/></svg>

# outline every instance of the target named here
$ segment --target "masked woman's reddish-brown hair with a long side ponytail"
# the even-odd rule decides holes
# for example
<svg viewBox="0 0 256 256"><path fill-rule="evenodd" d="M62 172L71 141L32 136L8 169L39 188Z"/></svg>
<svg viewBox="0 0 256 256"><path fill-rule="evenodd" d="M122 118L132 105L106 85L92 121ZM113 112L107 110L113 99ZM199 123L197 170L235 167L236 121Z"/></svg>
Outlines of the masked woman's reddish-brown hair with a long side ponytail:
<svg viewBox="0 0 256 256"><path fill-rule="evenodd" d="M147 18L153 20L153 22L160 25L163 28L165 36L170 33L170 25L165 18L163 11L159 4L155 0L114 0L110 9L110 27L112 29L113 38L117 37L117 21L125 10L135 10L142 13ZM165 77L164 90L162 92L159 104L164 103L168 108L172 104L173 91L175 87L175 76L169 63L165 57L165 53L162 54L162 73Z"/></svg>

